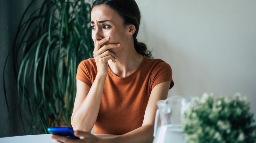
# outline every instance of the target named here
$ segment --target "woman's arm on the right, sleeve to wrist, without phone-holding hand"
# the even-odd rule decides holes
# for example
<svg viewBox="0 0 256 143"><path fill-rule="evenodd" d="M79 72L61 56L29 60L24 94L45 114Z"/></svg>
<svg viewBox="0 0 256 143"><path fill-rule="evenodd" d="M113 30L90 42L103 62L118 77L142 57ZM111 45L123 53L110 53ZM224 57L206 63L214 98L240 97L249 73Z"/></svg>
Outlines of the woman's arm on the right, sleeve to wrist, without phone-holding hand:
<svg viewBox="0 0 256 143"><path fill-rule="evenodd" d="M156 85L150 94L148 105L145 111L143 124L141 127L128 132L126 134L108 138L106 143L152 143L154 136L154 122L156 116L156 102L158 100L166 99L171 82L162 82Z"/></svg>

